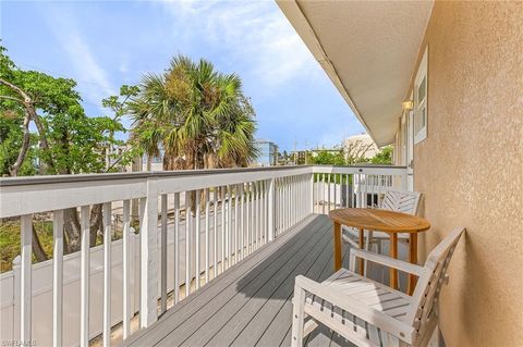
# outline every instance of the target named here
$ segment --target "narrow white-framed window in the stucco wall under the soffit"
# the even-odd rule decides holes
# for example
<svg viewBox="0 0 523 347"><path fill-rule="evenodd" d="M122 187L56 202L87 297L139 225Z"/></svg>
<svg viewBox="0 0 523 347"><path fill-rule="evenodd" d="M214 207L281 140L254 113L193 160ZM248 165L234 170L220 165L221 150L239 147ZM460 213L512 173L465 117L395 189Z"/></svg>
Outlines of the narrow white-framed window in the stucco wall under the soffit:
<svg viewBox="0 0 523 347"><path fill-rule="evenodd" d="M428 77L428 46L423 53L414 80L414 144L427 137L427 77Z"/></svg>

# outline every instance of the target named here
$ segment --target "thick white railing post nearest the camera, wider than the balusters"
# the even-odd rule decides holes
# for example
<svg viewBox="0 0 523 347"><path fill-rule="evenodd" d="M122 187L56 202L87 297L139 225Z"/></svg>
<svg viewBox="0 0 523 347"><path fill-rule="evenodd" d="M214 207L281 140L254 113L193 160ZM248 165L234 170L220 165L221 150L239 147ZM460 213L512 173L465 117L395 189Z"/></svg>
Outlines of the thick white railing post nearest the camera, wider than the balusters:
<svg viewBox="0 0 523 347"><path fill-rule="evenodd" d="M158 320L158 188L156 178L147 179L147 199L139 228L141 300L139 326L147 327Z"/></svg>

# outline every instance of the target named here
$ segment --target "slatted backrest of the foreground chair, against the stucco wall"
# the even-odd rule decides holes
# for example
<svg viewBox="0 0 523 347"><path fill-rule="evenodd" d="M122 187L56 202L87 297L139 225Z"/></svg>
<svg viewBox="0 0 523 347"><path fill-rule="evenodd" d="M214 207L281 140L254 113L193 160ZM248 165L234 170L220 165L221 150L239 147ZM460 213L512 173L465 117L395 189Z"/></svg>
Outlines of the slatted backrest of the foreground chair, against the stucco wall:
<svg viewBox="0 0 523 347"><path fill-rule="evenodd" d="M465 232L464 227L457 227L450 232L436 248L430 251L425 262L425 271L419 276L412 296L413 306L406 322L417 330L419 338L426 335L429 326L437 322L437 302L439 293L447 277L447 269L454 252L455 246ZM430 332L431 333L431 329Z"/></svg>

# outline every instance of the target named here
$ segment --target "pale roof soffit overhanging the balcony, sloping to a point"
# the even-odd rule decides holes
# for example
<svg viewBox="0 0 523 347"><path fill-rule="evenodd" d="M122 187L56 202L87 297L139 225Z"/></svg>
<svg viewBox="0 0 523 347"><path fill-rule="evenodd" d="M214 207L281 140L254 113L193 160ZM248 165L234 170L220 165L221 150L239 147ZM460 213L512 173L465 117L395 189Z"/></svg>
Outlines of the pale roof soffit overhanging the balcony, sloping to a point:
<svg viewBox="0 0 523 347"><path fill-rule="evenodd" d="M376 144L393 142L433 1L277 3Z"/></svg>

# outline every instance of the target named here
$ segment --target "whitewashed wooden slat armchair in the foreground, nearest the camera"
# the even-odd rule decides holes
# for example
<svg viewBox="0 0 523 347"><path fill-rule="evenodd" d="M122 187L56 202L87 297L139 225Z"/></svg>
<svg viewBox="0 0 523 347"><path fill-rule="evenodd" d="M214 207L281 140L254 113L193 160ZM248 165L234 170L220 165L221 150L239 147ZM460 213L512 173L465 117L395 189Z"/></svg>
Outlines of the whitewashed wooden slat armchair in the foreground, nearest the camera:
<svg viewBox="0 0 523 347"><path fill-rule="evenodd" d="M356 346L426 346L438 322L438 299L452 252L465 232L453 230L433 249L424 267L352 248L350 270L323 283L297 276L292 346L325 324ZM418 276L413 296L355 273L356 258Z"/></svg>

